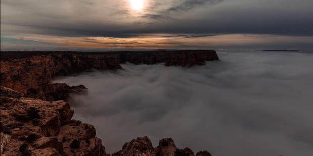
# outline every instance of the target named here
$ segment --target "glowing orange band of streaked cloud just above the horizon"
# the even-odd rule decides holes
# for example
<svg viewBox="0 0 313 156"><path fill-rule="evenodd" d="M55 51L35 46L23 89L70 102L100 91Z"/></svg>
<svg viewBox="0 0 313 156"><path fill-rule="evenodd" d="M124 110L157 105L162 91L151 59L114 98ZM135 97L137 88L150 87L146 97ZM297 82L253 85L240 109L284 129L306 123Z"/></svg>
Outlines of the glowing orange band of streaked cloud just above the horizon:
<svg viewBox="0 0 313 156"><path fill-rule="evenodd" d="M32 36L15 37L15 39L41 41L68 47L84 48L188 49L212 46L268 44L275 42L293 43L294 40L308 42L312 37L230 34L186 38L184 36L171 36L169 34L151 34L138 38Z"/></svg>

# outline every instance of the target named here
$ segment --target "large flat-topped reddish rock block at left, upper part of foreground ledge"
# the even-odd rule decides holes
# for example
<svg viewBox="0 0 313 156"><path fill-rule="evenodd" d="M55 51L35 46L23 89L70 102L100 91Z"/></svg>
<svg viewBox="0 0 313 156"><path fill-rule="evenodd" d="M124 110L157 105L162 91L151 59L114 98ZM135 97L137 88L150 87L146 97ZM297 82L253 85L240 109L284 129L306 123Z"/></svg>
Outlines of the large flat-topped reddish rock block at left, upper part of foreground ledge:
<svg viewBox="0 0 313 156"><path fill-rule="evenodd" d="M2 126L7 126L5 130L16 136L28 135L31 131L43 136L54 136L61 124L69 123L74 114L64 101L47 102L30 98L17 100L8 97L1 97L1 101L4 103L1 105L1 114L7 117Z"/></svg>

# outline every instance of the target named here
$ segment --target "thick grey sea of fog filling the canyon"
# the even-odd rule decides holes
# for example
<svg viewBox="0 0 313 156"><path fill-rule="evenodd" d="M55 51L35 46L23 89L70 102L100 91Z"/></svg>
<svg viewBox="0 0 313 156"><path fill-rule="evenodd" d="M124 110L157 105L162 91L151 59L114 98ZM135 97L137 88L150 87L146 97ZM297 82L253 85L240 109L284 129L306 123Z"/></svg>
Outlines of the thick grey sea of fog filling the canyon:
<svg viewBox="0 0 313 156"><path fill-rule="evenodd" d="M217 51L192 68L122 64L58 83L84 85L73 119L93 124L107 153L133 138L213 156L313 155L313 53Z"/></svg>

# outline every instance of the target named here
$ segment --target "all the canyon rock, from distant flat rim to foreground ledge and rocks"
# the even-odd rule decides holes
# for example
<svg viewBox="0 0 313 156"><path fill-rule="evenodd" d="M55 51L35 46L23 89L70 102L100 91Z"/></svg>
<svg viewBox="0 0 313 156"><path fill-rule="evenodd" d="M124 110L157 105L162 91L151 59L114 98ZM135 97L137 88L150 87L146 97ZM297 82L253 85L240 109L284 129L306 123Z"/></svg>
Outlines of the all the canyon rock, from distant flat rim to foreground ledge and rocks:
<svg viewBox="0 0 313 156"><path fill-rule="evenodd" d="M191 67L218 60L213 50L138 52L1 52L1 155L211 155L179 149L171 138L153 147L138 137L107 154L93 125L72 120L70 94L87 94L82 86L52 80L81 72L122 69L121 63Z"/></svg>

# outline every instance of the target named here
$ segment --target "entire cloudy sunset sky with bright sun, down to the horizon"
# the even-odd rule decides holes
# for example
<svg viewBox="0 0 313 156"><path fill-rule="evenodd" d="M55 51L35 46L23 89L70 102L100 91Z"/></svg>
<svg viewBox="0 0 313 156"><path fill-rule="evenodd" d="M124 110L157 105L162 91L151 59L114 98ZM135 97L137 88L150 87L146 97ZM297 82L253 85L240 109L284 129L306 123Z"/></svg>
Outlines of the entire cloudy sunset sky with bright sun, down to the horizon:
<svg viewBox="0 0 313 156"><path fill-rule="evenodd" d="M2 0L1 50L310 50L306 0Z"/></svg>

